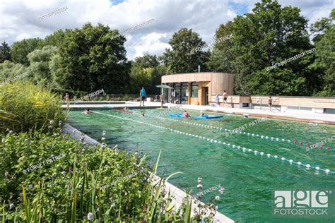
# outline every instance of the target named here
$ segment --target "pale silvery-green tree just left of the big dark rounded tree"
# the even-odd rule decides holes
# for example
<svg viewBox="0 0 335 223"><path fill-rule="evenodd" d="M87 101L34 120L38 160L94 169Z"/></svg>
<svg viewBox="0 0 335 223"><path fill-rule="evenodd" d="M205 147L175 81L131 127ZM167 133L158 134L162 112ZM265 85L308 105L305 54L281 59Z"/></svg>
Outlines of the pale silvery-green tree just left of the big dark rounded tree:
<svg viewBox="0 0 335 223"><path fill-rule="evenodd" d="M28 72L33 73L35 83L47 88L54 86L50 61L52 60L52 56L55 56L58 52L57 47L45 46L42 49L35 49L28 54L28 60L30 62Z"/></svg>

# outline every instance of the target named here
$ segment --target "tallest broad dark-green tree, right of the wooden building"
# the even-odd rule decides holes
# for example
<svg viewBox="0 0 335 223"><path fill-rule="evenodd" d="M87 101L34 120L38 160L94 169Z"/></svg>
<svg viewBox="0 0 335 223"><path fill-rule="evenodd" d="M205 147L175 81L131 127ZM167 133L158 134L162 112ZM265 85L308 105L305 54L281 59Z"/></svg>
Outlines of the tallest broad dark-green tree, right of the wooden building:
<svg viewBox="0 0 335 223"><path fill-rule="evenodd" d="M307 20L300 9L281 8L276 0L262 0L252 13L237 16L231 29L235 93L240 95L311 95L319 88L320 76L309 65L309 54L284 66L266 68L312 49ZM285 84L283 84L285 82Z"/></svg>

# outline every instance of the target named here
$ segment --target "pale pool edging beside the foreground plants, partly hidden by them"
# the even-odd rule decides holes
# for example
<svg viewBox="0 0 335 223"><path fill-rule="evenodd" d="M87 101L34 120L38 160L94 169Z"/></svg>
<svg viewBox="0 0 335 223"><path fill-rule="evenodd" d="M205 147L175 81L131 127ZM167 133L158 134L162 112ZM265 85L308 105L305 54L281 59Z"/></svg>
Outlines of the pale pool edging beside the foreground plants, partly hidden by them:
<svg viewBox="0 0 335 223"><path fill-rule="evenodd" d="M84 135L83 142L86 142L88 145L101 145L97 140L90 138L90 136L82 133L78 129L74 128L73 126L69 125L68 123L64 124L63 127L63 133L69 134L71 138L74 138L76 140L81 140L82 134ZM160 181L159 176L155 176L153 179L154 182ZM174 204L174 210L177 211L177 209L182 205L182 200L187 197L187 193L182 191L180 188L177 188L176 186L173 186L171 183L167 181L163 181L166 187L166 191L170 191L170 194L173 195L175 198L172 200L171 204ZM196 203L198 202L198 203ZM197 205L204 205L200 200L192 200L192 211L191 215L194 216L194 207ZM223 222L223 223L233 223L233 219L230 219L229 217L221 214L221 212L216 212L216 215L213 217L213 222Z"/></svg>

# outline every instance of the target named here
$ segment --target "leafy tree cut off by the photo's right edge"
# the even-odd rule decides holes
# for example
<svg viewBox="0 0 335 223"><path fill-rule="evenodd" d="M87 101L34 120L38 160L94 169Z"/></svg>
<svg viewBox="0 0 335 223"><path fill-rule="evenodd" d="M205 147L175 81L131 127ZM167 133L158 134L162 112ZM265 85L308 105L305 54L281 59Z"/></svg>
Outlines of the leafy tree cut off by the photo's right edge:
<svg viewBox="0 0 335 223"><path fill-rule="evenodd" d="M311 67L322 68L323 85L319 96L335 96L335 8L329 18L322 18L312 25L315 35L314 42L317 48L317 59Z"/></svg>

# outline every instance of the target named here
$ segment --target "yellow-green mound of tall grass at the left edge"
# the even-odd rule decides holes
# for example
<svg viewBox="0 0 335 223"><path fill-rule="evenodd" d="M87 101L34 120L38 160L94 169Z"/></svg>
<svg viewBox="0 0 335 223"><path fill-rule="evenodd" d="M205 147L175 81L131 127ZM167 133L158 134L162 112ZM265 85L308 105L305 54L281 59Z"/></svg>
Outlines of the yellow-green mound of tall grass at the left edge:
<svg viewBox="0 0 335 223"><path fill-rule="evenodd" d="M64 119L59 97L49 90L19 81L0 85L0 132L47 131Z"/></svg>

